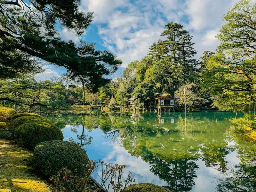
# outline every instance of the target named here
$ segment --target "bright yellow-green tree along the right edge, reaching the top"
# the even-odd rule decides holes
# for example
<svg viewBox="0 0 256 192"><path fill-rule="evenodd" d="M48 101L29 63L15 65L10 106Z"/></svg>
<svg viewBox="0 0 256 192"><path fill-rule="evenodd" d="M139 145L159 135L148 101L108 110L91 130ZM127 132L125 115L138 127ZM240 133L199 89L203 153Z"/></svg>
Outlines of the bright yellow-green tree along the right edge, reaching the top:
<svg viewBox="0 0 256 192"><path fill-rule="evenodd" d="M224 14L216 55L206 53L202 86L210 91L214 106L242 111L254 105L256 4L242 0Z"/></svg>

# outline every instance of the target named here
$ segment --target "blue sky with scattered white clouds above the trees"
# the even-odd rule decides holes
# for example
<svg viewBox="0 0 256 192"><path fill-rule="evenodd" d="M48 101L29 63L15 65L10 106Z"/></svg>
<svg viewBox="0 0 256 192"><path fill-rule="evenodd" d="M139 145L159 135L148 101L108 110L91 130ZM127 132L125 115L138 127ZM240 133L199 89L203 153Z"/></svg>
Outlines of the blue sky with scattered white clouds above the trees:
<svg viewBox="0 0 256 192"><path fill-rule="evenodd" d="M160 37L164 25L181 23L193 36L196 58L203 51L215 51L215 36L224 23L222 16L238 0L81 0L81 11L94 12L94 21L80 37L67 29L59 32L64 40L96 43L123 61L118 73L130 62L147 55L148 47ZM42 80L64 73L64 67L47 66Z"/></svg>

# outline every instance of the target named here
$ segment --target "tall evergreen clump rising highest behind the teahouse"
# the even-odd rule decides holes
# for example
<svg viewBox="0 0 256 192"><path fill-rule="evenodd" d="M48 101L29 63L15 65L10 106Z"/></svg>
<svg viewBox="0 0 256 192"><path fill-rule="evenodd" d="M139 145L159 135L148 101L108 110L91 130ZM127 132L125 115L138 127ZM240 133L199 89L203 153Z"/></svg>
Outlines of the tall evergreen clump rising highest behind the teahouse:
<svg viewBox="0 0 256 192"><path fill-rule="evenodd" d="M159 40L150 47L152 66L145 72L145 80L150 81L158 92L174 93L180 82L194 82L197 76L197 53L188 31L183 25L170 22Z"/></svg>

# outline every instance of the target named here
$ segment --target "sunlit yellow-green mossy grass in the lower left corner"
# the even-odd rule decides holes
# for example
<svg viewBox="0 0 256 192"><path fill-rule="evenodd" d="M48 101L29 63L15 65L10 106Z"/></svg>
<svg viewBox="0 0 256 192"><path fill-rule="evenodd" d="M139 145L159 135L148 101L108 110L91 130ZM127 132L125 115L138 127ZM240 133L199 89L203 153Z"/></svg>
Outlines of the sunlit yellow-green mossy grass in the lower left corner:
<svg viewBox="0 0 256 192"><path fill-rule="evenodd" d="M33 174L33 153L13 141L0 139L0 192L50 192L46 182Z"/></svg>

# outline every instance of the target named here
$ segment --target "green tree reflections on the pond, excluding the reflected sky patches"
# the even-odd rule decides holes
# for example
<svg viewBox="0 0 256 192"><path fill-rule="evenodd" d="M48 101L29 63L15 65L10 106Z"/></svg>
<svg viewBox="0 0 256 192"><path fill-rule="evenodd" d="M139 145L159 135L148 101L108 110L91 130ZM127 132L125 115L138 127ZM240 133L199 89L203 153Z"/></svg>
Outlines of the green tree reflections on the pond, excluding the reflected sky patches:
<svg viewBox="0 0 256 192"><path fill-rule="evenodd" d="M231 135L225 118L233 116L229 112L187 113L186 118L184 113L162 113L160 117L154 113L96 113L67 118L67 124L72 125L81 146L90 143L85 129L100 128L108 142L149 163L150 171L173 192L192 189L199 160L226 175L216 178L217 191L256 191L255 144ZM82 134L78 134L79 125ZM226 156L235 150L241 163L230 168Z"/></svg>

